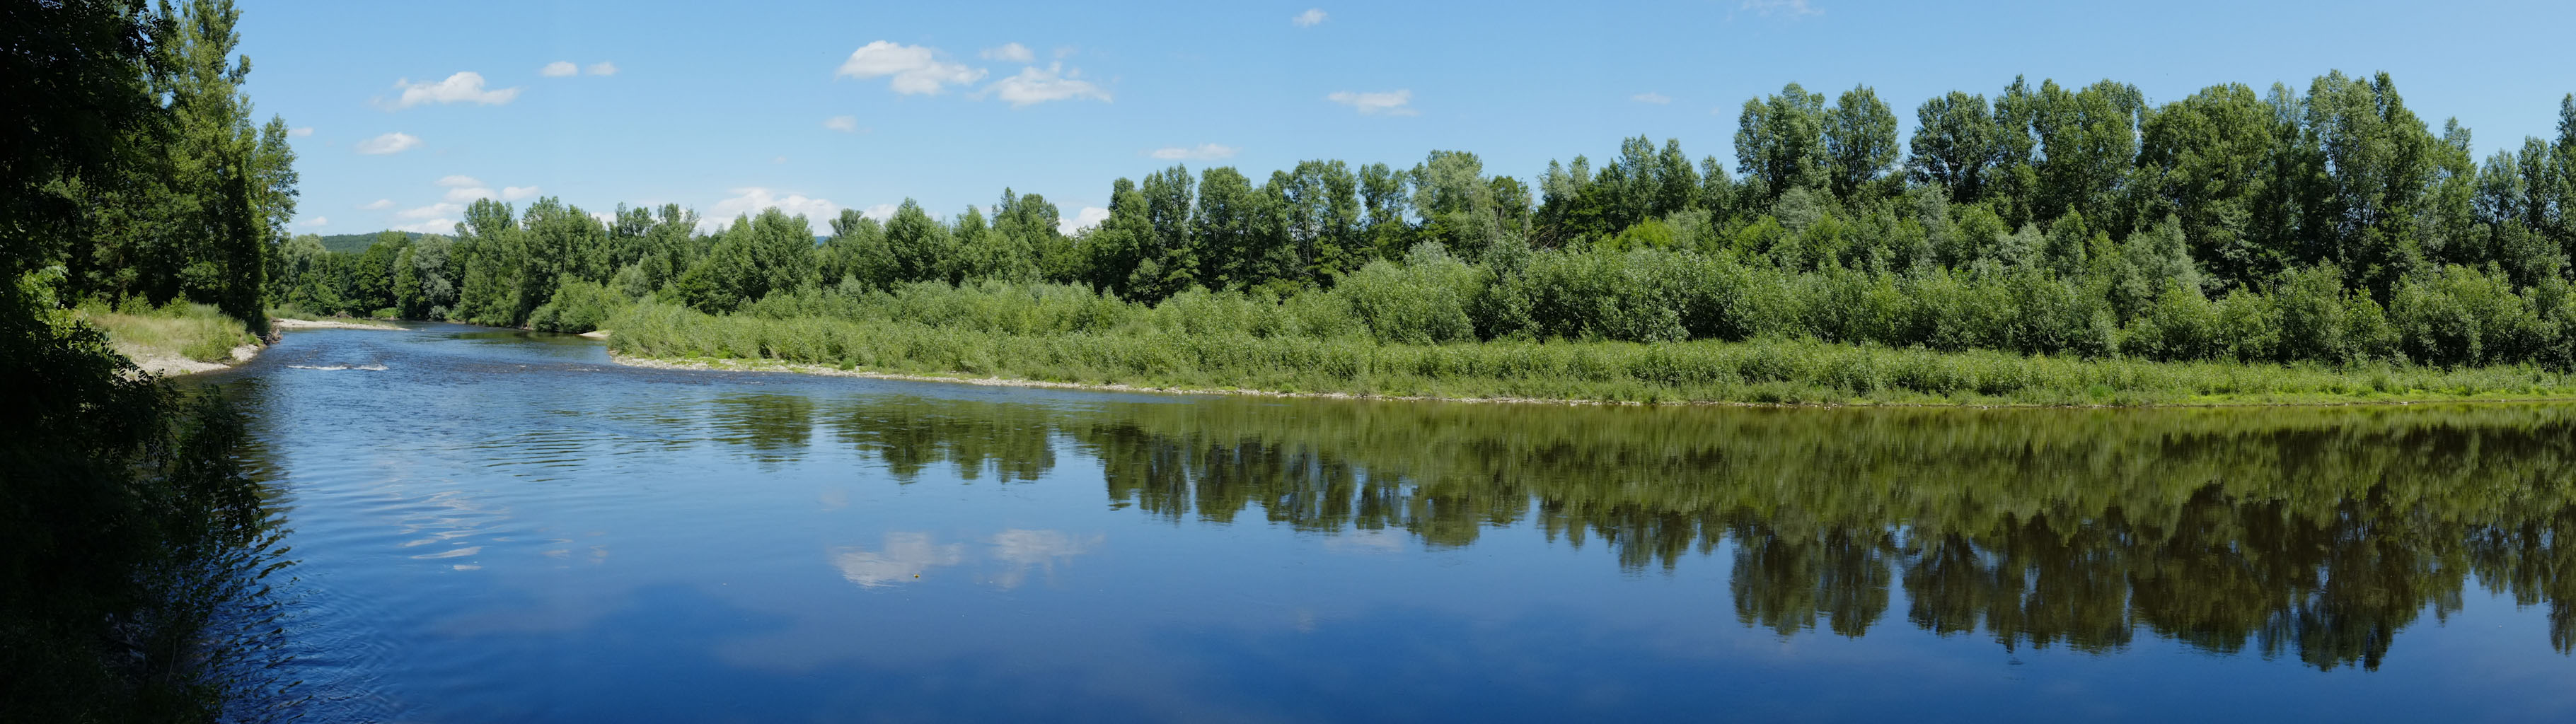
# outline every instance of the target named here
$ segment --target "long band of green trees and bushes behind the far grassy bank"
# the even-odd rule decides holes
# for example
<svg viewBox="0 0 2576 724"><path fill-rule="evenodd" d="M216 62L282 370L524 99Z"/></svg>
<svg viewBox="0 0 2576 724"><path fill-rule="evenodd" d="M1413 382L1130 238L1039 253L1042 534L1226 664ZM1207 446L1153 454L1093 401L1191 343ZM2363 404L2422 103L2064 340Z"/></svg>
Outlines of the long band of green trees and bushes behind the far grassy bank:
<svg viewBox="0 0 2576 724"><path fill-rule="evenodd" d="M2545 103L2532 103L2548 113ZM482 201L453 237L327 255L296 240L281 301L587 330L636 301L729 314L773 294L1064 283L1133 304L1190 289L1327 294L1376 340L1747 340L2159 361L2576 361L2576 98L2561 134L2473 157L2391 77L2331 72L2148 103L2012 80L1914 108L1870 88L1744 100L1734 165L1677 139L1551 162L1167 167L1110 214L1005 191L945 219L902 204L698 234L677 206L600 222ZM392 309L392 312L386 312ZM773 314L783 314L773 309ZM1244 330L1252 332L1252 330Z"/></svg>

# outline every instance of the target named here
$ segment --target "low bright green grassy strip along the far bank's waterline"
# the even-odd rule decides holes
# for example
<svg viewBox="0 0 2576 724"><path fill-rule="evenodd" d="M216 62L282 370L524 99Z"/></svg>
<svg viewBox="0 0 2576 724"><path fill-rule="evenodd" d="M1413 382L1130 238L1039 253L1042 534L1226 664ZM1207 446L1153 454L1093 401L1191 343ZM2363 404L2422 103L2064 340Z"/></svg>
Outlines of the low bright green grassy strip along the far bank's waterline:
<svg viewBox="0 0 2576 724"><path fill-rule="evenodd" d="M711 317L641 304L611 348L662 361L1252 389L1293 394L1752 405L2318 405L2576 397L2532 366L2275 366L2053 358L1816 340L1450 343L1244 332L997 332L845 317Z"/></svg>

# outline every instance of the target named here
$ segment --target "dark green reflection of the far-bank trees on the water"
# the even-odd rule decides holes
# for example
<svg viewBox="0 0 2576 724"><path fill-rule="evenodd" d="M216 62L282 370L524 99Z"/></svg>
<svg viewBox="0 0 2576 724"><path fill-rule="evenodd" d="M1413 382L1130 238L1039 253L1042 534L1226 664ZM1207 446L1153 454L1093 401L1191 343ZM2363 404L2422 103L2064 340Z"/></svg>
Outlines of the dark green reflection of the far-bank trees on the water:
<svg viewBox="0 0 2576 724"><path fill-rule="evenodd" d="M2576 407L1723 410L732 394L724 441L840 443L896 479L1038 479L1059 443L1162 520L1497 528L1625 569L1731 557L1780 636L1904 621L2014 647L2378 667L2481 585L2576 647ZM1901 593L1901 600L1899 595Z"/></svg>

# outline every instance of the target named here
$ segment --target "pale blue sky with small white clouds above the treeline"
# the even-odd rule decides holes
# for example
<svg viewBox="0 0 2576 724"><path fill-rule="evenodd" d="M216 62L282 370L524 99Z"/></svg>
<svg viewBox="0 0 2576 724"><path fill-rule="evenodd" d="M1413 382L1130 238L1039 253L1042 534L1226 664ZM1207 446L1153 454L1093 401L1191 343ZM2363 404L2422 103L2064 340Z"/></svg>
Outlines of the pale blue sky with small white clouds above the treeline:
<svg viewBox="0 0 2576 724"><path fill-rule="evenodd" d="M2576 3L263 3L258 113L299 129L296 232L446 232L477 196L822 219L1005 186L1072 219L1110 180L1311 157L1486 173L1682 139L1734 167L1736 108L1873 85L1911 131L2014 75L2306 88L2385 70L2478 155L2553 137ZM309 131L307 131L309 129Z"/></svg>

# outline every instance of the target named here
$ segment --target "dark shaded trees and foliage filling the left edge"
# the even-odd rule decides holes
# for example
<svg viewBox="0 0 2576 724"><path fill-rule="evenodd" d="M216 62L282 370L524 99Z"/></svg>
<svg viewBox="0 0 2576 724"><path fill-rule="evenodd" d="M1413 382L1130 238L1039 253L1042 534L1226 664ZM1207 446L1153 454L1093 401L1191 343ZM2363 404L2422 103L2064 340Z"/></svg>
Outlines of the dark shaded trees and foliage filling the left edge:
<svg viewBox="0 0 2576 724"><path fill-rule="evenodd" d="M201 358L268 327L296 180L237 90L237 18L0 5L0 721L214 721L234 693L211 624L258 598L268 541L242 420L90 319Z"/></svg>

